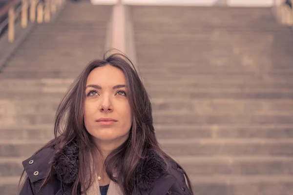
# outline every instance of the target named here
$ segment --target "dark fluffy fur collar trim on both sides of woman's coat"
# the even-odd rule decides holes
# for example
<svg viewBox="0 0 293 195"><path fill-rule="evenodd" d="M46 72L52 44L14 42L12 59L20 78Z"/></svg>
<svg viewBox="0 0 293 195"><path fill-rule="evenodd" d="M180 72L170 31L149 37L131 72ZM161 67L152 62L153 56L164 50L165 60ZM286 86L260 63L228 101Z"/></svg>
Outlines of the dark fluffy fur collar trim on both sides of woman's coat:
<svg viewBox="0 0 293 195"><path fill-rule="evenodd" d="M52 165L58 173L59 179L65 184L73 183L78 175L78 153L79 146L72 141L61 150L56 150ZM148 152L138 170L137 185L142 190L149 190L161 177L167 175L167 164L157 153Z"/></svg>

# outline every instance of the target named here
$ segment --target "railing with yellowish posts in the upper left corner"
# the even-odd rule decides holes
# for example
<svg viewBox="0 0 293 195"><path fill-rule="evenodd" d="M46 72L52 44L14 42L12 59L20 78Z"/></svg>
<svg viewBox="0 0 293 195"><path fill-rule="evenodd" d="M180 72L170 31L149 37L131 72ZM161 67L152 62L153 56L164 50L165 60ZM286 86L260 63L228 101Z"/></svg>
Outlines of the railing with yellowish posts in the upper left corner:
<svg viewBox="0 0 293 195"><path fill-rule="evenodd" d="M4 18L0 23L0 32L8 26L8 41L12 43L18 19L22 28L26 28L29 21L49 22L64 2L65 0L10 0L0 9L0 18Z"/></svg>

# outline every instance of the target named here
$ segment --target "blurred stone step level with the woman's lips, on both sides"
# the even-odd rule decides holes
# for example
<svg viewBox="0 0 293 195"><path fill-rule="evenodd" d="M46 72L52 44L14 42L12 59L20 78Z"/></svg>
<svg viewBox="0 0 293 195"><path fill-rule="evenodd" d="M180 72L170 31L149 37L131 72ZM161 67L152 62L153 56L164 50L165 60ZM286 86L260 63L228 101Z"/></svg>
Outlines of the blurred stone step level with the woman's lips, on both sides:
<svg viewBox="0 0 293 195"><path fill-rule="evenodd" d="M0 125L7 127L14 123L19 125L50 124L54 122L54 112L24 114L7 105L5 114L0 118ZM216 113L216 112L215 112ZM272 112L260 114L195 114L188 111L170 111L153 113L156 124L293 124L292 112Z"/></svg>

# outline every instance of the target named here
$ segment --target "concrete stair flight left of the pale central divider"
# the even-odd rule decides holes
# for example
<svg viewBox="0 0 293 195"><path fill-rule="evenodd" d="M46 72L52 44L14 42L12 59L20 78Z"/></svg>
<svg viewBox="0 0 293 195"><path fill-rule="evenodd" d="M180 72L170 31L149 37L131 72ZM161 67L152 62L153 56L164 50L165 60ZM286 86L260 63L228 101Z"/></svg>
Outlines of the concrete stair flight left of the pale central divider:
<svg viewBox="0 0 293 195"><path fill-rule="evenodd" d="M16 195L21 161L53 138L57 106L78 74L105 50L111 6L68 2L38 25L0 73L0 194Z"/></svg>

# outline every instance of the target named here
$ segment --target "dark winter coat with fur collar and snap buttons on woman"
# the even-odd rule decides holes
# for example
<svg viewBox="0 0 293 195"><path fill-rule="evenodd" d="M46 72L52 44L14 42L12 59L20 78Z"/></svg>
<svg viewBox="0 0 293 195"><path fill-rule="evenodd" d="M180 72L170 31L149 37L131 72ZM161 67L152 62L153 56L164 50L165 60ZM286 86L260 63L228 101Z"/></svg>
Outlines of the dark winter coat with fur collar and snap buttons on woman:
<svg viewBox="0 0 293 195"><path fill-rule="evenodd" d="M184 171L174 161L164 160L155 153L148 154L143 162L140 179L131 195L191 195ZM56 173L53 182L41 189L46 173L53 165ZM44 148L22 162L28 176L20 195L71 195L71 186L78 174L78 146L71 144L56 152Z"/></svg>

